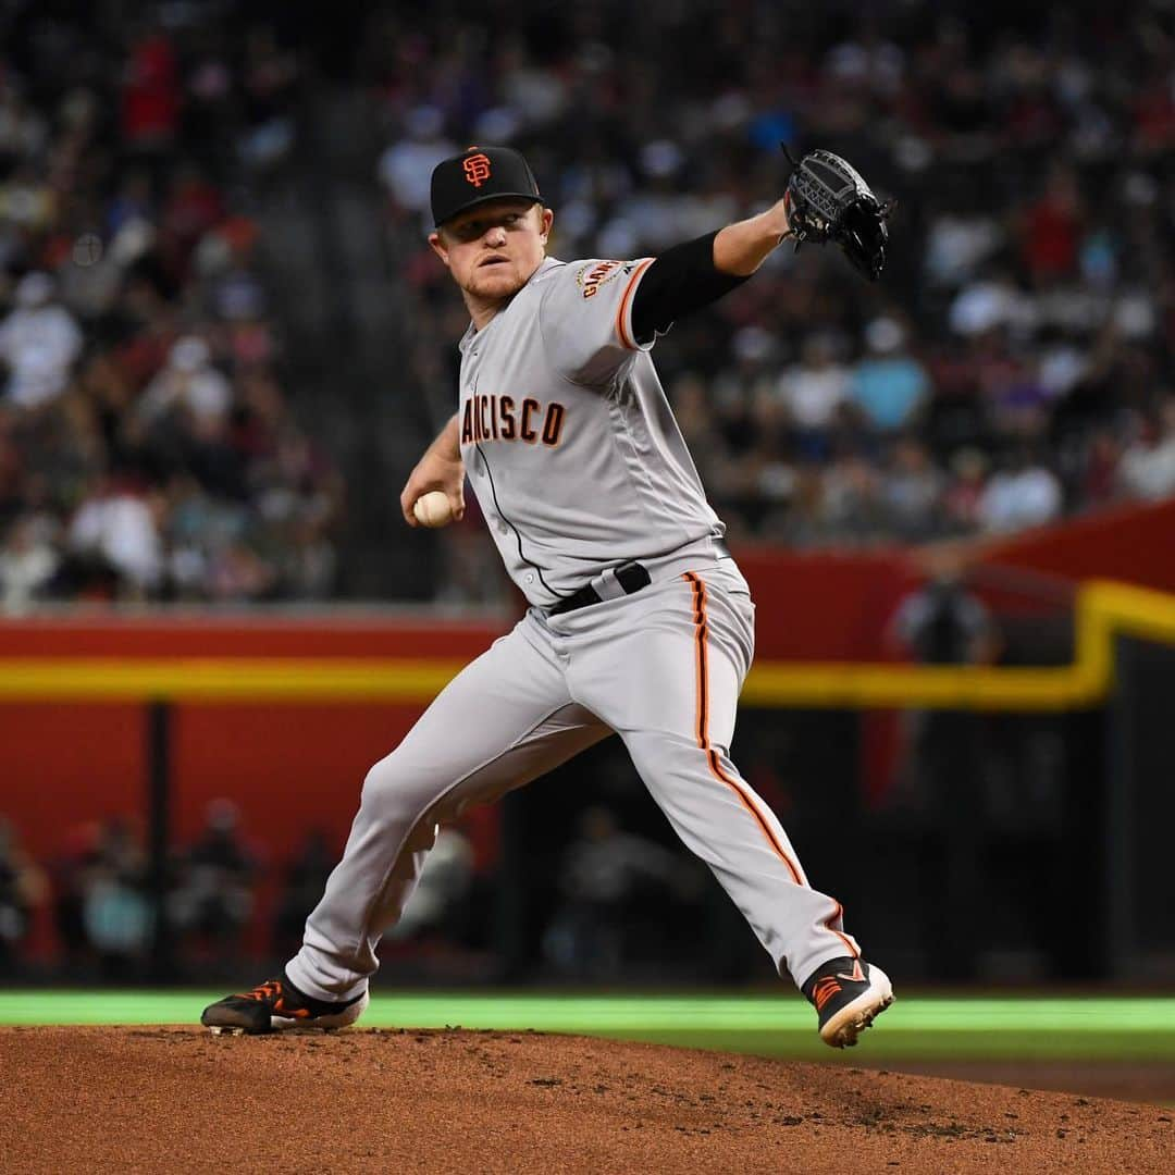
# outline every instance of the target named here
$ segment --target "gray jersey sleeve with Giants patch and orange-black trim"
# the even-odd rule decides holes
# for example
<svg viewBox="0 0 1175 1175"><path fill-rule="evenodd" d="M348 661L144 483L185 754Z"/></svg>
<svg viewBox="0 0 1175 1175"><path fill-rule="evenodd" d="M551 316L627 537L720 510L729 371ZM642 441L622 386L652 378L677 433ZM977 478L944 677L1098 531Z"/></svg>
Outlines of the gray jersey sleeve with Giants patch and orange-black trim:
<svg viewBox="0 0 1175 1175"><path fill-rule="evenodd" d="M632 300L652 257L572 261L545 282L539 325L548 357L573 383L605 384L653 341L638 343Z"/></svg>

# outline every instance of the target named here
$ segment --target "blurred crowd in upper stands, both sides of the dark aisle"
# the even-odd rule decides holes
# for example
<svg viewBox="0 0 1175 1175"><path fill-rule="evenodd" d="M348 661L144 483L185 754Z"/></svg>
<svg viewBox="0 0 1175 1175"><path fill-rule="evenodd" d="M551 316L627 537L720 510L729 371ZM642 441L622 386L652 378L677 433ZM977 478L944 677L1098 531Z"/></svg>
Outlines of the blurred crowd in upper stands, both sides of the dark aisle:
<svg viewBox="0 0 1175 1175"><path fill-rule="evenodd" d="M290 411L258 200L313 179L300 134L338 90L370 113L356 140L381 140L371 289L403 324L371 395L400 381L419 446L452 409L465 327L425 243L437 160L517 146L555 255L632 257L778 199L786 142L841 152L897 200L891 258L870 284L834 248L781 248L659 343L733 535L918 542L1175 492L1169 5L445 0L328 38L253 6L240 29L210 4L135 11L0 18L7 609L345 579L349 455ZM395 502L404 472L367 489ZM446 545L441 593L492 595L484 536Z"/></svg>

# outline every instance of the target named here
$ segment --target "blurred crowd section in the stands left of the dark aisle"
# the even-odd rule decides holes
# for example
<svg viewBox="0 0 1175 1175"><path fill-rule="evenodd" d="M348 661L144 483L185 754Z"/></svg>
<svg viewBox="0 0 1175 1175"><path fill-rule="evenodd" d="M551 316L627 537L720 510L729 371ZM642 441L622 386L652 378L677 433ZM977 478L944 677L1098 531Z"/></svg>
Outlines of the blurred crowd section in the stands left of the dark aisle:
<svg viewBox="0 0 1175 1175"><path fill-rule="evenodd" d="M2 18L0 607L324 597L340 479L251 214L297 59L214 6L133 12Z"/></svg>

